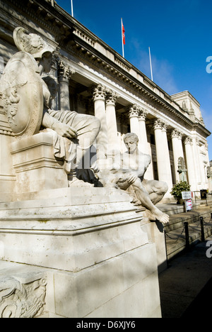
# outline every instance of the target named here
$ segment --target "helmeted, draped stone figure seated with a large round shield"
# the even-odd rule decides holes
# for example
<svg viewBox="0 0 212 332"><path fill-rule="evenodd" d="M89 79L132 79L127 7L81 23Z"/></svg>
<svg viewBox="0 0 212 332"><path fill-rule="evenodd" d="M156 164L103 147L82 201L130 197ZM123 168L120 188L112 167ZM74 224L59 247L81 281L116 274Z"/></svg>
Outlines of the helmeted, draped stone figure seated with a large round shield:
<svg viewBox="0 0 212 332"><path fill-rule="evenodd" d="M54 152L66 161L69 187L86 185L78 179L77 169L100 131L100 121L76 111L52 111L51 94L42 75L51 70L53 50L39 35L20 27L13 38L20 52L11 57L1 78L8 122L17 137L38 133L40 126L57 133Z"/></svg>

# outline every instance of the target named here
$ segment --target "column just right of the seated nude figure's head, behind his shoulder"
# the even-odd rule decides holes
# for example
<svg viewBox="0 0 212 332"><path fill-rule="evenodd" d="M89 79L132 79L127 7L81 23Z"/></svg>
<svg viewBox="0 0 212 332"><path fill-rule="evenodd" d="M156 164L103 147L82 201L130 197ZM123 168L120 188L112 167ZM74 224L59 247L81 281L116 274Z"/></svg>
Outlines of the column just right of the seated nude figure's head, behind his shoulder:
<svg viewBox="0 0 212 332"><path fill-rule="evenodd" d="M146 134L146 114L145 109L139 109L139 148L142 153L151 155L152 158L151 144L148 143ZM153 179L153 162L148 166L144 177L146 179Z"/></svg>

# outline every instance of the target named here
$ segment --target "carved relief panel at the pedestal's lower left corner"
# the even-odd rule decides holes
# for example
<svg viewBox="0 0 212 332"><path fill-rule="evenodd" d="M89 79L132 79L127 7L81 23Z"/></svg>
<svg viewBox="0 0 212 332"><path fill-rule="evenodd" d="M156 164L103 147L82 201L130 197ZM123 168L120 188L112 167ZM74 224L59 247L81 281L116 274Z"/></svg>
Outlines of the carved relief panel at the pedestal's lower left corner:
<svg viewBox="0 0 212 332"><path fill-rule="evenodd" d="M0 261L0 318L40 316L46 297L47 272Z"/></svg>

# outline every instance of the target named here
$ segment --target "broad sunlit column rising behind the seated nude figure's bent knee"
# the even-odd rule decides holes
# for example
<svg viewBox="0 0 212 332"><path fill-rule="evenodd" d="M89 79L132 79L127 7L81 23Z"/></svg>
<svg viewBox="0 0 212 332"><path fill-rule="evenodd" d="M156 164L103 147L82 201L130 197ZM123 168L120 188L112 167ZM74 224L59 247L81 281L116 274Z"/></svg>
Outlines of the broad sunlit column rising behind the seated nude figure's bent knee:
<svg viewBox="0 0 212 332"><path fill-rule="evenodd" d="M158 165L159 181L167 183L168 190L165 197L171 197L170 191L172 189L172 172L170 166L170 153L167 144L166 129L167 126L163 121L157 119L153 125L155 131L155 148Z"/></svg>

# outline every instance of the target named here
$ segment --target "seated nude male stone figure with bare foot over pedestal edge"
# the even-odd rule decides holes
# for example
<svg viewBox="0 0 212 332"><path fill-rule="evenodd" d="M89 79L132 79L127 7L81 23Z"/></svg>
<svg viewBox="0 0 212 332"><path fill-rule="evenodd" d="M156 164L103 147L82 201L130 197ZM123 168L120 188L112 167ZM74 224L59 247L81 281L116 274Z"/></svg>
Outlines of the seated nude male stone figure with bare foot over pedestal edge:
<svg viewBox="0 0 212 332"><path fill-rule="evenodd" d="M151 163L151 156L139 151L139 138L135 133L127 133L124 136L124 143L127 148L126 153L121 155L119 162L116 158L111 170L98 174L100 181L105 187L113 185L123 190L131 187L136 199L149 211L148 217L151 220L167 223L169 216L155 206L167 192L167 184L158 180L144 179L148 165Z"/></svg>

